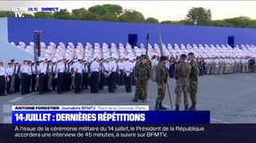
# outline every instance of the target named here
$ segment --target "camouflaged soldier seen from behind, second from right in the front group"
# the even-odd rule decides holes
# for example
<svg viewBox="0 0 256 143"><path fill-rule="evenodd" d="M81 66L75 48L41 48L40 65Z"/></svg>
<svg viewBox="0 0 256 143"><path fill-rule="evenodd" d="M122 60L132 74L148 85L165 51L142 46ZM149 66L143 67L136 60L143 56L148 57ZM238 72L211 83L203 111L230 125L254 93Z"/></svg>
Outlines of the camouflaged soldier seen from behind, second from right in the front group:
<svg viewBox="0 0 256 143"><path fill-rule="evenodd" d="M176 111L180 110L182 91L184 94L185 110L189 109L188 88L189 88L189 77L190 77L191 67L190 67L190 64L186 63L186 60L187 60L187 55L181 55L181 61L175 67Z"/></svg>

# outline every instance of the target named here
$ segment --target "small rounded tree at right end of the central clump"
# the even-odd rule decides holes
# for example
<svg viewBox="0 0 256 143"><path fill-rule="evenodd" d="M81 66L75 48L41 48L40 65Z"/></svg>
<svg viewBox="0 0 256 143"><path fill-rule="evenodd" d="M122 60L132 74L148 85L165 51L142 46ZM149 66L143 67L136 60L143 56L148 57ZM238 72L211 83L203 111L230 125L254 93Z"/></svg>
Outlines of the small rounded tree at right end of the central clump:
<svg viewBox="0 0 256 143"><path fill-rule="evenodd" d="M145 18L142 13L139 13L135 10L126 10L125 13L120 15L119 21L144 22Z"/></svg>

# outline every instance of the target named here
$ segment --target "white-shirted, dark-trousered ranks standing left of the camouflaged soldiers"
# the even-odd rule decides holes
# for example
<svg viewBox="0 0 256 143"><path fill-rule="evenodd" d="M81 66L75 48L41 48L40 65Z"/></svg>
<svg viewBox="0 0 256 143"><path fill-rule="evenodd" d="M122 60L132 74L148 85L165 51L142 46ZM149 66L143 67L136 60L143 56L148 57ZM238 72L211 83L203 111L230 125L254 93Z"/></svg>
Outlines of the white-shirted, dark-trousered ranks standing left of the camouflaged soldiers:
<svg viewBox="0 0 256 143"><path fill-rule="evenodd" d="M106 85L110 93L116 91L117 85L125 85L130 93L135 63L136 59L128 58L95 58L93 62L62 58L57 61L40 59L38 62L24 60L22 64L11 60L5 68L4 62L0 61L0 95L5 95L5 92L26 95L36 91L44 94L52 90L61 94L72 88L75 93L81 93L89 86L92 93L98 93Z"/></svg>

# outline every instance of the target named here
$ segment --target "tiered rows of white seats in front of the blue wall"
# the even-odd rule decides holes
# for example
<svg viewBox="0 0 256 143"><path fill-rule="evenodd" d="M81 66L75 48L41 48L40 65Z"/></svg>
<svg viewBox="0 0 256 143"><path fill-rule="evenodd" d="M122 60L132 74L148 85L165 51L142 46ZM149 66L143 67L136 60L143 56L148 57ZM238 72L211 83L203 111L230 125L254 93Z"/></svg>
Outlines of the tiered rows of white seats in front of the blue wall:
<svg viewBox="0 0 256 143"><path fill-rule="evenodd" d="M30 42L26 45L24 42L19 42L18 45L15 45L11 42L13 46L16 46L31 55L33 55L33 47L34 43ZM92 61L93 58L99 57L103 59L107 59L109 57L114 58L124 58L128 57L129 59L134 59L139 55L146 55L146 46L140 44L139 47L135 46L132 48L129 44L125 46L122 43L118 45L111 43L110 46L106 43L77 43L74 44L69 42L68 44L64 44L63 42L59 42L55 44L53 42L49 42L46 44L44 42L40 43L41 47L41 57L47 58L53 61L57 61L57 59L66 57L68 60L73 60L75 58L83 58L87 61ZM234 48L229 45L214 45L214 44L163 44L163 55L167 56L179 56L181 54L188 54L193 52L196 57L203 57L203 58L211 58L211 57L236 57L236 58L243 58L243 57L256 57L256 46L255 45L235 45ZM148 45L148 56L150 58L153 55L161 55L160 46L154 44Z"/></svg>

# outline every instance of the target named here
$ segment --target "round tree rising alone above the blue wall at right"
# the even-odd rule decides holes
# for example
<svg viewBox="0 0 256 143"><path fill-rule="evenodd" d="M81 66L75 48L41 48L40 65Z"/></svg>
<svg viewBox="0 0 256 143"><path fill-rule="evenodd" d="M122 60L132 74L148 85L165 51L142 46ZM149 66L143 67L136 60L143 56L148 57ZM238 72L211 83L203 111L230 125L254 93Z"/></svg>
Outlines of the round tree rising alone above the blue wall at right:
<svg viewBox="0 0 256 143"><path fill-rule="evenodd" d="M193 7L186 15L186 21L197 25L209 25L211 21L211 11L203 7Z"/></svg>

